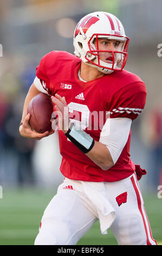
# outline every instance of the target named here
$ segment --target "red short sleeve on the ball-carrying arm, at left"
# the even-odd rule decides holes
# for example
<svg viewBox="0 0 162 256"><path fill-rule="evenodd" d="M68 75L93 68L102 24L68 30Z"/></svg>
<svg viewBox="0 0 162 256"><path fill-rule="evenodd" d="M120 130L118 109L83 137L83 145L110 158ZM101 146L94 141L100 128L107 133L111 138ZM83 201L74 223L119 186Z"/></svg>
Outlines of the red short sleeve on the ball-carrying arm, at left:
<svg viewBox="0 0 162 256"><path fill-rule="evenodd" d="M36 68L36 76L40 79L40 82L42 84L42 87L44 90L48 92L48 94L51 94L50 92L50 81L48 78L48 72L47 72L47 61L48 61L48 54L43 56L41 59L40 64Z"/></svg>

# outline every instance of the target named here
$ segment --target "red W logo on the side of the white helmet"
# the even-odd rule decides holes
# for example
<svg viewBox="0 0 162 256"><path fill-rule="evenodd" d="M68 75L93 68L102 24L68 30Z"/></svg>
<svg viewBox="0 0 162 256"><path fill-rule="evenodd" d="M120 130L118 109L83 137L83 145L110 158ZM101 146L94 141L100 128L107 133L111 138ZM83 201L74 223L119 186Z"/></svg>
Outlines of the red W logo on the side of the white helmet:
<svg viewBox="0 0 162 256"><path fill-rule="evenodd" d="M85 19L83 19L81 22L79 22L77 24L77 27L75 29L75 36L79 34L79 28L81 27L83 32L86 34L88 28L93 25L94 23L96 23L97 21L99 21L100 19L91 15L88 15L87 17L85 17Z"/></svg>

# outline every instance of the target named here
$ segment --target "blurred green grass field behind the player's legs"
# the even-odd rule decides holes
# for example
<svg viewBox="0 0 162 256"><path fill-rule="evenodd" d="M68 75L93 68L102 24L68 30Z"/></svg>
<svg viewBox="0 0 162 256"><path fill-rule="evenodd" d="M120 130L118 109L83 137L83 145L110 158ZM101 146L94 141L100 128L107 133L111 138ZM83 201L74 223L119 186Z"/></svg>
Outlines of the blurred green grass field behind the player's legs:
<svg viewBox="0 0 162 256"><path fill-rule="evenodd" d="M33 245L43 211L55 192L34 188L4 189L0 199L0 245ZM144 195L144 201L153 238L162 245L162 199L156 194ZM117 242L111 230L102 235L96 222L77 245L117 245Z"/></svg>

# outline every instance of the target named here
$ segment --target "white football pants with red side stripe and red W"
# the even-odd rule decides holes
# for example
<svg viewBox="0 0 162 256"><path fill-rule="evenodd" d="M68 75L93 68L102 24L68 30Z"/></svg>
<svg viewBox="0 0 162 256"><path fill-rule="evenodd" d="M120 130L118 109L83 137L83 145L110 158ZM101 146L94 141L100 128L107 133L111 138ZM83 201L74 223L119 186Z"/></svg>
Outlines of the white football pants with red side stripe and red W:
<svg viewBox="0 0 162 256"><path fill-rule="evenodd" d="M111 230L119 245L156 245L135 174L104 182L116 216ZM99 220L95 206L83 194L81 181L64 179L44 211L35 245L76 245Z"/></svg>

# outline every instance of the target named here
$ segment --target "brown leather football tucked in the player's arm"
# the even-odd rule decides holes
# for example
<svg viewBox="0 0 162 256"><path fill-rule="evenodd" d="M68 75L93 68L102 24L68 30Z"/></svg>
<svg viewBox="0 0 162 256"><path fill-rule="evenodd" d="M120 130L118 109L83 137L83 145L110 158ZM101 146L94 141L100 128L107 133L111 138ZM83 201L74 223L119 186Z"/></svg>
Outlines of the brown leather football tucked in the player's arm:
<svg viewBox="0 0 162 256"><path fill-rule="evenodd" d="M30 101L27 113L30 113L31 129L39 133L52 130L50 119L53 113L53 103L50 96L44 93L37 94Z"/></svg>

